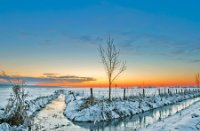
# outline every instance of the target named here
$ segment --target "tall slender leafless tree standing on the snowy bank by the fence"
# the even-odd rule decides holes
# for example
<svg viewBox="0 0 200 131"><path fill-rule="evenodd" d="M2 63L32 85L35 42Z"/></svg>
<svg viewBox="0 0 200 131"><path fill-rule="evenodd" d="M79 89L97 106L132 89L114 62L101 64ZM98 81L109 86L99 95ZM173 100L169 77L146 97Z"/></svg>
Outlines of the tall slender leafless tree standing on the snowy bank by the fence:
<svg viewBox="0 0 200 131"><path fill-rule="evenodd" d="M102 63L108 76L109 100L111 101L111 87L113 81L126 70L126 63L119 60L120 50L114 45L114 39L108 38L107 46L99 46Z"/></svg>

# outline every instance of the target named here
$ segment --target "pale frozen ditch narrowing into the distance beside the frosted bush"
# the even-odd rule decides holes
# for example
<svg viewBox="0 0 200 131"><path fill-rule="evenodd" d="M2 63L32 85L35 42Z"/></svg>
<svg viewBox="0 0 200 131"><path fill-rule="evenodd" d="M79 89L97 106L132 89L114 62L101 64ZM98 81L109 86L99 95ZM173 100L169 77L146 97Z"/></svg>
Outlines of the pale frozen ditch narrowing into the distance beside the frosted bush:
<svg viewBox="0 0 200 131"><path fill-rule="evenodd" d="M34 117L31 129L33 131L69 129L67 127L72 123L63 115L65 107L65 96L61 94Z"/></svg>

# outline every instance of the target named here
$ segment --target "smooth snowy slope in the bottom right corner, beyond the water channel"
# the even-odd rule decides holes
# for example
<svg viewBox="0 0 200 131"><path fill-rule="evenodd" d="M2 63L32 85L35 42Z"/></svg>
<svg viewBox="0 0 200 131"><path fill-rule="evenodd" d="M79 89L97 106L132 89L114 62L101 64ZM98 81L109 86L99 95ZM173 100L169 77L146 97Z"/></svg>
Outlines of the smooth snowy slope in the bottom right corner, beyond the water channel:
<svg viewBox="0 0 200 131"><path fill-rule="evenodd" d="M200 102L141 131L199 131Z"/></svg>

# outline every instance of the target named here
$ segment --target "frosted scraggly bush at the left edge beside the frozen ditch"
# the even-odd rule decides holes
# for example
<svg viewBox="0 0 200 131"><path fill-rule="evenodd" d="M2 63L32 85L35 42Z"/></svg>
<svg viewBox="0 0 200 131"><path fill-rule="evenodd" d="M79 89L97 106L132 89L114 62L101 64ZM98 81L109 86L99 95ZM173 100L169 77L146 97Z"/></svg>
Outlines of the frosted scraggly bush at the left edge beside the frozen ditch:
<svg viewBox="0 0 200 131"><path fill-rule="evenodd" d="M29 126L30 119L25 111L25 99L27 93L25 93L24 90L24 81L19 78L12 80L5 72L2 72L2 75L12 85L12 95L8 99L8 104L5 108L5 113L8 114L5 121L12 125L25 124L26 126Z"/></svg>

